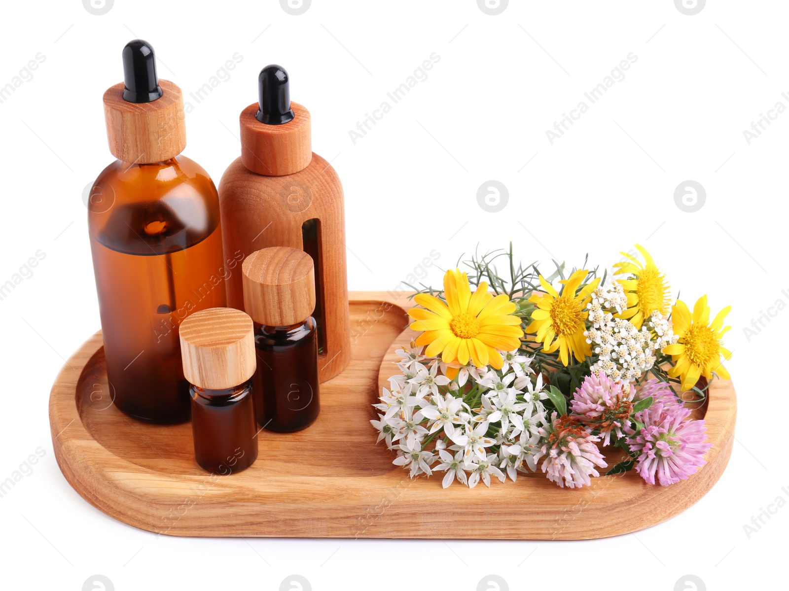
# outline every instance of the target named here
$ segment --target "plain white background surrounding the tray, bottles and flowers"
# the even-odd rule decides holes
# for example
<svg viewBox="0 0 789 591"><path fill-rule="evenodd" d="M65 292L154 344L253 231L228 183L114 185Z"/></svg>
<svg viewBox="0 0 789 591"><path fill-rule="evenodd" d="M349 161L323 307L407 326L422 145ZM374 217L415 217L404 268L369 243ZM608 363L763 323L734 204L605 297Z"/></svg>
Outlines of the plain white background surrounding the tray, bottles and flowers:
<svg viewBox="0 0 789 591"><path fill-rule="evenodd" d="M0 282L39 249L46 258L0 301L0 480L45 451L0 499L3 588L77 591L97 573L118 590L279 589L292 573L312 589L471 591L488 573L510 589L668 590L678 579L682 589L689 573L707 589L764 588L783 571L789 508L750 539L743 526L789 500L789 313L756 335L743 327L789 303L789 114L750 145L742 132L777 102L789 107L787 13L777 0L709 2L694 16L671 0L513 0L498 16L473 0L314 0L300 16L276 0L116 0L102 16L78 0L5 2L0 86L39 52L45 61L0 103ZM477 244L512 241L524 262L548 265L589 252L607 267L638 242L690 305L701 294L713 313L733 305L737 443L716 487L660 526L583 542L181 539L95 510L58 469L47 402L64 359L99 329L82 193L112 160L102 94L122 80L121 50L136 37L187 100L243 56L187 115L185 155L217 184L239 154L237 117L256 101L258 71L289 71L292 98L312 112L313 149L345 188L351 290L391 289L434 249L427 281L437 284ZM354 145L350 129L433 52L428 78ZM552 145L546 130L630 52L638 61L624 80ZM674 200L689 179L706 189L695 213ZM497 213L477 203L488 180L509 191Z"/></svg>

